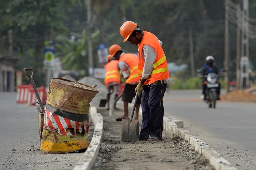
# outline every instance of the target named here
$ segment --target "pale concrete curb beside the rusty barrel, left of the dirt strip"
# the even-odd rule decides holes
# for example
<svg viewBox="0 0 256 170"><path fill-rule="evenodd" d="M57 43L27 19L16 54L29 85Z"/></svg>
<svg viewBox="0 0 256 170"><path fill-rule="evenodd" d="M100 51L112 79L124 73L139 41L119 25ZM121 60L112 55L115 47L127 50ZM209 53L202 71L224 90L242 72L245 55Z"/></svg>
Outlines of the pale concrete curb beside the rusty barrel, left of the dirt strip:
<svg viewBox="0 0 256 170"><path fill-rule="evenodd" d="M84 152L84 156L77 162L73 170L90 170L96 162L99 154L100 144L103 140L103 117L97 113L96 107L90 107L90 118L94 124L94 133L89 147Z"/></svg>

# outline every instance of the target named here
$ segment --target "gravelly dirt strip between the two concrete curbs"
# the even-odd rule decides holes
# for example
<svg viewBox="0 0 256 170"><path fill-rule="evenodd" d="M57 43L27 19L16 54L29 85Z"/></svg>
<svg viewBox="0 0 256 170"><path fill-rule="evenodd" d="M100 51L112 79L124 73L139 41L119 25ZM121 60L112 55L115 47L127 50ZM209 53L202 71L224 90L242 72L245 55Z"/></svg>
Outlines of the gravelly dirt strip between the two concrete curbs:
<svg viewBox="0 0 256 170"><path fill-rule="evenodd" d="M108 116L108 110L103 107L98 108L98 112L103 116L104 137L93 170L214 169L191 144L176 136L172 139L164 137L163 140L158 141L121 141L122 123L116 121L116 118L122 116L124 110L122 105L117 107L120 110L114 110L111 118ZM141 117L139 120L140 131Z"/></svg>

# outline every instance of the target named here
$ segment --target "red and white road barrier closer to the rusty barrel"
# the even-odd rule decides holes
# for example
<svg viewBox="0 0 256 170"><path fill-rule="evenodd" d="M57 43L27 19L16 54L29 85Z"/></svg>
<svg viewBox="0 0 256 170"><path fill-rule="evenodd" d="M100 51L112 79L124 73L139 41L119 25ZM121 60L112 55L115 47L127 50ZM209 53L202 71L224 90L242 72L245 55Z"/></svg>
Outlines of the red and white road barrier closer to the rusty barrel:
<svg viewBox="0 0 256 170"><path fill-rule="evenodd" d="M44 86L38 87L36 89L37 89L39 97L42 101L42 104L45 105L46 99L47 99L47 94L46 94L46 90L45 90ZM35 105L36 102L38 102L36 93L33 88L30 88L28 90L28 106Z"/></svg>

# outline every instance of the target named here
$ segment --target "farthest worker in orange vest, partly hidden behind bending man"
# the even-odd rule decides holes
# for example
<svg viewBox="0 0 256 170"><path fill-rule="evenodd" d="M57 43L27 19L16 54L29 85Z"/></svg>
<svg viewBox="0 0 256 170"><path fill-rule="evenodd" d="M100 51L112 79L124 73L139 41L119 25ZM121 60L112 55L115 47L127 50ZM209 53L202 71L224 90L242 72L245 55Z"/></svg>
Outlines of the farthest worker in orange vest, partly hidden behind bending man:
<svg viewBox="0 0 256 170"><path fill-rule="evenodd" d="M104 83L107 89L107 110L109 110L109 100L111 93L114 92L114 99L116 99L119 94L120 72L117 69L117 65L118 61L115 59L115 57L108 55L108 63L104 66L106 70ZM116 104L114 105L114 109L117 109Z"/></svg>

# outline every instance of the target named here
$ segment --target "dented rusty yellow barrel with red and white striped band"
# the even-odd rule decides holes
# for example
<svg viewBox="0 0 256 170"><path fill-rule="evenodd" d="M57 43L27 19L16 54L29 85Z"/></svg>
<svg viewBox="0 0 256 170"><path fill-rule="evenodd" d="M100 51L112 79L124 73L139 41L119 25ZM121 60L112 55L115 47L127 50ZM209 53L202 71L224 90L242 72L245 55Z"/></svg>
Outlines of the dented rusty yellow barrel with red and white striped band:
<svg viewBox="0 0 256 170"><path fill-rule="evenodd" d="M52 78L46 100L43 153L69 153L88 148L89 107L99 91L89 85Z"/></svg>

